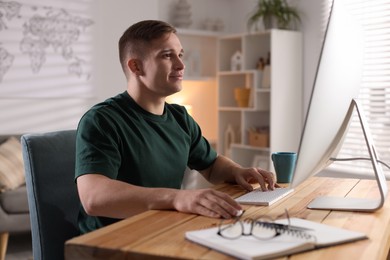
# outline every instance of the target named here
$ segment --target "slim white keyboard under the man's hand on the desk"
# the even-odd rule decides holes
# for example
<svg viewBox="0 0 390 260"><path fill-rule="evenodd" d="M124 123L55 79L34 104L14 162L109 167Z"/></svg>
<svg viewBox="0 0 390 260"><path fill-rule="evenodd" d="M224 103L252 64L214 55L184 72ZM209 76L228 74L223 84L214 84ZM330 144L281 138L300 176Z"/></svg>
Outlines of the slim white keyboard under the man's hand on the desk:
<svg viewBox="0 0 390 260"><path fill-rule="evenodd" d="M293 191L292 188L275 188L269 191L262 191L258 188L236 198L236 201L242 204L269 206Z"/></svg>

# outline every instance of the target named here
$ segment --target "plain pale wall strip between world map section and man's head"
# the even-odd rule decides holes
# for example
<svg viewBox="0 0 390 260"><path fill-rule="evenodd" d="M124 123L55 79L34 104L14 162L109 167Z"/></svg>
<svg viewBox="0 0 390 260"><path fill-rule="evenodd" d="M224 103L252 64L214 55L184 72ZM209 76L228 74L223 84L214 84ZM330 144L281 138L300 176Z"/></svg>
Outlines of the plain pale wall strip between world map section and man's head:
<svg viewBox="0 0 390 260"><path fill-rule="evenodd" d="M126 90L126 78L118 56L118 40L133 23L158 18L158 0L99 0L96 25L99 28L96 77L97 99L103 100ZM135 2L137 4L135 4Z"/></svg>

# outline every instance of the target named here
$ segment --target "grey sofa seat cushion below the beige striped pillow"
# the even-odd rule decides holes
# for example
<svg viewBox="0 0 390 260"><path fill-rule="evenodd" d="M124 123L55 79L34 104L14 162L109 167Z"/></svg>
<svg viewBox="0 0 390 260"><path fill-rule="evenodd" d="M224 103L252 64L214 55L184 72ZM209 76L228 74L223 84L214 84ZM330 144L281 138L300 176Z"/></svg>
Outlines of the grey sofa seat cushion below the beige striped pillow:
<svg viewBox="0 0 390 260"><path fill-rule="evenodd" d="M28 213L26 186L0 193L0 207L8 214Z"/></svg>

